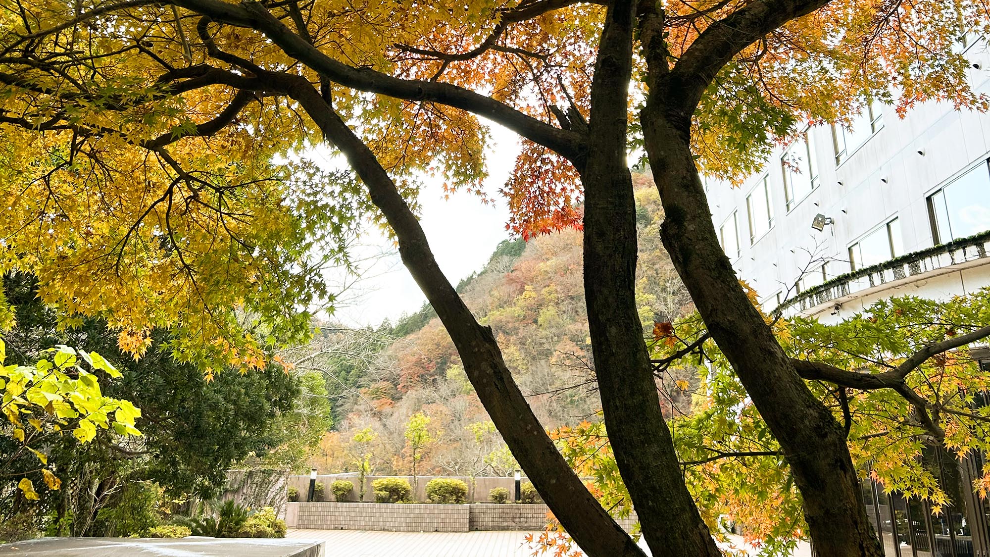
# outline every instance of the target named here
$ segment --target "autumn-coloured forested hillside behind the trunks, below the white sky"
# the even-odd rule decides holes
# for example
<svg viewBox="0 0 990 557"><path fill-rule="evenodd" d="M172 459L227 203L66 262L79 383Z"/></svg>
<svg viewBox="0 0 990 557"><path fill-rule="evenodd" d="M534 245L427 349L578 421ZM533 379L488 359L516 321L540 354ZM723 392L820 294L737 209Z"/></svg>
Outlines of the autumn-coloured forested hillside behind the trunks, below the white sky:
<svg viewBox="0 0 990 557"><path fill-rule="evenodd" d="M637 299L649 334L654 322L681 314L689 298L660 245L656 188L644 175L637 185ZM479 321L494 331L506 363L548 429L593 418L600 406L581 241L573 230L505 241L484 269L457 287ZM417 412L428 417L431 439L417 465L421 474L504 475L516 467L429 305L377 330L326 325L289 360L323 372L334 397L336 431L324 436L312 460L322 471L353 471L370 455L375 473L407 473L412 463L406 431ZM674 396L683 409L688 400ZM663 401L669 410L671 399Z"/></svg>

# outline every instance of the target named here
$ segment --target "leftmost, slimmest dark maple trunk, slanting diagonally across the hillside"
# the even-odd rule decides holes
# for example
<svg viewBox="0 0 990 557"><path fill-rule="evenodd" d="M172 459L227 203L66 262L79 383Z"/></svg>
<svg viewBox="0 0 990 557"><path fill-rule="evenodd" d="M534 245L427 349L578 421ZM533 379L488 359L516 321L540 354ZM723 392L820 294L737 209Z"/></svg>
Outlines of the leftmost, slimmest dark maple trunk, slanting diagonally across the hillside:
<svg viewBox="0 0 990 557"><path fill-rule="evenodd" d="M633 539L588 492L546 434L502 359L491 328L481 326L434 259L416 216L371 151L308 82L280 83L347 157L399 240L399 254L446 327L464 371L554 515L588 555L643 557Z"/></svg>

